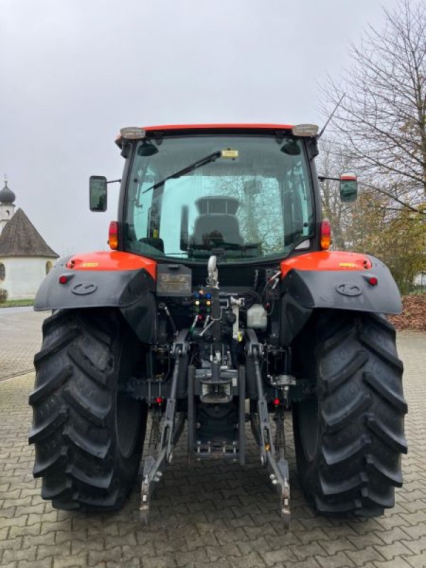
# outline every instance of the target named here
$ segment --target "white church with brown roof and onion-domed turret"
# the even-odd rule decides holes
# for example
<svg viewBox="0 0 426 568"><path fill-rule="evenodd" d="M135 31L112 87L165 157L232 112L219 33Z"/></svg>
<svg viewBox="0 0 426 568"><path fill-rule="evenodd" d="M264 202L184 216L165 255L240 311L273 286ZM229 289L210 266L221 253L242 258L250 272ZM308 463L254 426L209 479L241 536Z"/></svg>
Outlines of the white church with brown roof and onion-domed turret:
<svg viewBox="0 0 426 568"><path fill-rule="evenodd" d="M0 190L0 290L8 300L32 299L59 257L22 209L7 182Z"/></svg>

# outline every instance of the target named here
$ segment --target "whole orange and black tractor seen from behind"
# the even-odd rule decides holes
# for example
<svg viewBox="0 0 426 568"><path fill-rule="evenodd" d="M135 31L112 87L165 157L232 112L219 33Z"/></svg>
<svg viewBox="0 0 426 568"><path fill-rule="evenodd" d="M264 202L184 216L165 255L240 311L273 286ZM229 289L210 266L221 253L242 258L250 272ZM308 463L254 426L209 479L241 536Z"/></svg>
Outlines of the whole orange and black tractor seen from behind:
<svg viewBox="0 0 426 568"><path fill-rule="evenodd" d="M386 315L400 295L377 258L329 250L318 138L312 124L121 129L111 250L62 258L35 299L52 315L29 442L53 507L119 510L141 479L147 520L183 433L189 464L244 466L252 432L288 527L285 420L315 510L394 506L407 405ZM339 182L356 200L356 175ZM90 178L93 212L109 183Z"/></svg>

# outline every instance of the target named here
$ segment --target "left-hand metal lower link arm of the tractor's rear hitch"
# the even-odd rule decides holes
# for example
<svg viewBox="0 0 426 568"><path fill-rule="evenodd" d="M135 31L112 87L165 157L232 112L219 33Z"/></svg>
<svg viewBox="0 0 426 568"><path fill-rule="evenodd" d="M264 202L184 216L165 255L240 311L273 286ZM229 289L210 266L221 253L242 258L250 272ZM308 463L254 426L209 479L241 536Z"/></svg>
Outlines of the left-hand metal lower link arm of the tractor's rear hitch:
<svg viewBox="0 0 426 568"><path fill-rule="evenodd" d="M173 367L170 383L170 397L165 407L163 423L161 423L161 410L159 408L153 409L148 455L143 464L141 506L139 507L141 520L145 523L148 523L151 494L153 493L155 483L160 481L163 475L163 466L165 466L166 463L170 464L172 461L173 449L185 426L185 415L180 415L179 420L176 421L176 389L178 387L182 356L187 351L187 344L185 344L186 335L187 329L180 332L178 339L173 345L175 366Z"/></svg>

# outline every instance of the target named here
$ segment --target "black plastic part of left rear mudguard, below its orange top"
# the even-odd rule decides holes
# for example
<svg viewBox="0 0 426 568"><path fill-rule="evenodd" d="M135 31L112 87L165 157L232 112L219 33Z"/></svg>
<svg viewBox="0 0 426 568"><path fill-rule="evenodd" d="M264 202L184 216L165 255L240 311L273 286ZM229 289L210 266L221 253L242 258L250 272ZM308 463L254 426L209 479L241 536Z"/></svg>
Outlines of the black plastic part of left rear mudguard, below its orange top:
<svg viewBox="0 0 426 568"><path fill-rule="evenodd" d="M141 342L156 341L155 283L146 270L70 270L69 258L58 261L43 280L34 310L118 308ZM61 284L60 276L69 278L67 283Z"/></svg>

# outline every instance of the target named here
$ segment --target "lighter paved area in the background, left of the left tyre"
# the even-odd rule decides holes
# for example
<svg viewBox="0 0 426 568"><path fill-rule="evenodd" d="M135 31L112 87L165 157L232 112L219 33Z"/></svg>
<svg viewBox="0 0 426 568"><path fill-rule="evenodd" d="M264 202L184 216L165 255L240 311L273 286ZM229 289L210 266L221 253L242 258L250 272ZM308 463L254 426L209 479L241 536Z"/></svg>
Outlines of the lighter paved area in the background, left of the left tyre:
<svg viewBox="0 0 426 568"><path fill-rule="evenodd" d="M0 381L32 371L41 345L41 324L50 312L0 310Z"/></svg>

